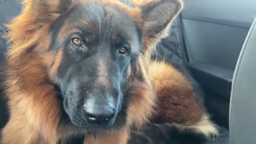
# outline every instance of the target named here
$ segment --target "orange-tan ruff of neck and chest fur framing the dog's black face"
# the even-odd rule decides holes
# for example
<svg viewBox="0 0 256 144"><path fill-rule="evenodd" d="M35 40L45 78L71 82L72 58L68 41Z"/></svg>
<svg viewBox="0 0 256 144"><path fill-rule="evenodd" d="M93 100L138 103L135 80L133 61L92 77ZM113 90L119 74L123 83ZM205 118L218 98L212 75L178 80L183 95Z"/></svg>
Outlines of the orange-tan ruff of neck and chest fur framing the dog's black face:
<svg viewBox="0 0 256 144"><path fill-rule="evenodd" d="M55 144L58 141L65 142L76 131L85 134L87 130L78 127L73 130L73 127L59 125L61 115L58 100L59 93L54 86L45 81L47 77L50 77L51 81L55 82L54 76L62 61L61 52L56 55L42 53L50 44L50 37L47 33L51 23L59 17L59 14L54 12L49 20L44 21L44 25L37 25L36 14L39 14L39 11L45 11L44 7L38 7L38 13L34 14L31 13L33 5L30 0L24 1L23 4L25 9L21 15L15 18L10 25L7 25L10 29L7 36L13 42L8 53L9 60L6 67L6 93L9 98L11 116L10 121L2 131L1 143ZM54 1L51 6L52 10L56 4ZM117 5L119 3L115 2L113 4ZM127 7L125 9L134 14L131 17L139 17L138 13L132 12L133 10ZM35 44L39 45L35 50L28 53L30 47ZM142 74L142 77L146 77L145 73ZM137 89L139 86L145 86L142 87L144 91ZM129 137L129 127L133 124L139 127L148 121L147 118L151 114L155 98L148 81L134 82L134 90L131 90L131 94L133 94L133 97L130 99L132 101L130 107L141 107L141 110L129 108L127 113L129 117L123 129L110 133L102 132L99 137L86 139L86 143L97 144L97 142L102 143L102 140L113 143L115 138L119 139L116 139L118 143L121 143L121 140L125 143L125 139ZM147 113L144 113L144 111L147 111ZM63 127L65 129L62 129Z"/></svg>

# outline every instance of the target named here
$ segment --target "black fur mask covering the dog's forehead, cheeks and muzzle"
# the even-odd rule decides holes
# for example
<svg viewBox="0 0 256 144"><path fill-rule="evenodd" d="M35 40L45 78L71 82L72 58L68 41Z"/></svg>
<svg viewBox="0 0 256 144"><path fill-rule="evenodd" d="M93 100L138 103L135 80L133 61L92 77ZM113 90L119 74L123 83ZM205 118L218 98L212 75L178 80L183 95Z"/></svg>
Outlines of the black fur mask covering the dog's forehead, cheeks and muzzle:
<svg viewBox="0 0 256 144"><path fill-rule="evenodd" d="M142 36L136 23L117 7L107 8L108 12L99 3L76 5L51 31L49 51L63 53L57 75L63 108L71 122L81 127L108 128L125 123L122 95L127 91L127 69L137 67L141 52ZM77 29L77 32L69 34L69 29ZM60 31L67 31L68 35L61 37ZM81 38L83 46L74 45L71 42L74 37ZM122 46L127 47L127 54L118 52ZM98 82L99 78L107 85ZM86 104L99 111L105 110L100 109L101 106L113 105L115 116L104 125L90 124L83 116Z"/></svg>

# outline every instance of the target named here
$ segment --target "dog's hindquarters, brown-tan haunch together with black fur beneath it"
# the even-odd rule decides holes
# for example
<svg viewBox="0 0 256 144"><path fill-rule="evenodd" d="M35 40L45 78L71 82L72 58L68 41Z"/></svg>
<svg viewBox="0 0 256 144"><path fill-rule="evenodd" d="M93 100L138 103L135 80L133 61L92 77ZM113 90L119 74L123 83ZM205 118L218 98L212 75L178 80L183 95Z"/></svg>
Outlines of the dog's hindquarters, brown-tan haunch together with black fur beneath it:
<svg viewBox="0 0 256 144"><path fill-rule="evenodd" d="M148 62L147 75L156 91L151 123L132 131L129 144L203 143L218 136L218 126L210 120L203 97L186 69L162 58Z"/></svg>

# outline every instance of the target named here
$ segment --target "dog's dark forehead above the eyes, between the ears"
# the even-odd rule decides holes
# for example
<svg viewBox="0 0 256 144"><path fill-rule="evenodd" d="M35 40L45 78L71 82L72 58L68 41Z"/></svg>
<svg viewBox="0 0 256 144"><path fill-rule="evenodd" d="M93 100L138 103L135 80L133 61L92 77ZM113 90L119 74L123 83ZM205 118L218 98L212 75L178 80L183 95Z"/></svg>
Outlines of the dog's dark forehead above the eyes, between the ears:
<svg viewBox="0 0 256 144"><path fill-rule="evenodd" d="M108 3L77 4L65 16L60 35L64 38L72 33L87 33L112 38L123 36L127 41L138 41L138 27L129 14L123 7Z"/></svg>

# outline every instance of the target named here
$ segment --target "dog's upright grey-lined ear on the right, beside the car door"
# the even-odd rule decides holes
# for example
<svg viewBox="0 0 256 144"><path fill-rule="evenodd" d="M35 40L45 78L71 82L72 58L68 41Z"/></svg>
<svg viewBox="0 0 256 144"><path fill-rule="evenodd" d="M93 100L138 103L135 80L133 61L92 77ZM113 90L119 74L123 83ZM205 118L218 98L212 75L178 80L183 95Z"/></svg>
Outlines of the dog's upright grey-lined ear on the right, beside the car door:
<svg viewBox="0 0 256 144"><path fill-rule="evenodd" d="M182 5L181 0L156 0L140 5L145 42L157 43L167 36L170 23L181 11Z"/></svg>

